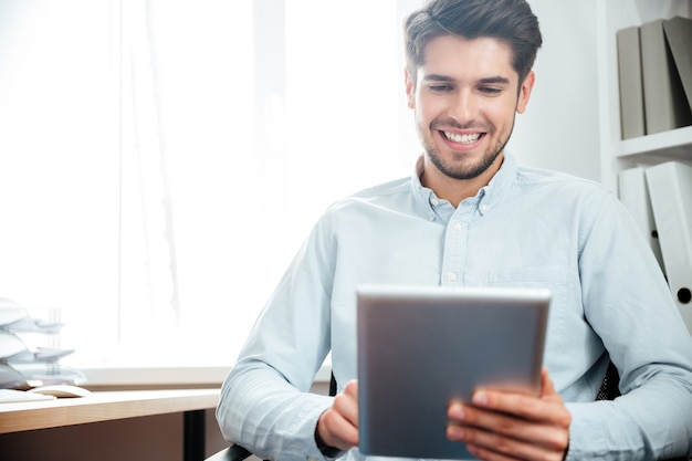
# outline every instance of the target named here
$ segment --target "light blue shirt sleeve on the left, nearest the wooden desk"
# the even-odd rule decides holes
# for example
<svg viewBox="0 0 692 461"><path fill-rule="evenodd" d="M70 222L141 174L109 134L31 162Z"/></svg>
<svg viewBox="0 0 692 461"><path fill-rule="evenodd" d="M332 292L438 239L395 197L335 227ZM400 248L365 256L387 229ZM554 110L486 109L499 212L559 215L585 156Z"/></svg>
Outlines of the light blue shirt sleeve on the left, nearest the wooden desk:
<svg viewBox="0 0 692 461"><path fill-rule="evenodd" d="M326 221L295 256L221 388L221 432L263 459L324 458L314 432L332 398L308 390L329 350L334 270Z"/></svg>

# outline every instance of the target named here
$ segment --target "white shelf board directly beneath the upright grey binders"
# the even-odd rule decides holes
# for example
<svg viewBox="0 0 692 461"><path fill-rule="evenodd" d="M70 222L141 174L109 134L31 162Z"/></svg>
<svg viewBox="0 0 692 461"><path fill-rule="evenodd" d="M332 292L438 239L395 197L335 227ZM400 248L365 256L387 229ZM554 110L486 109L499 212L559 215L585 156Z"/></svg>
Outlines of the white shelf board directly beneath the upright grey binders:
<svg viewBox="0 0 692 461"><path fill-rule="evenodd" d="M615 155L620 159L659 156L692 160L692 126L621 140Z"/></svg>

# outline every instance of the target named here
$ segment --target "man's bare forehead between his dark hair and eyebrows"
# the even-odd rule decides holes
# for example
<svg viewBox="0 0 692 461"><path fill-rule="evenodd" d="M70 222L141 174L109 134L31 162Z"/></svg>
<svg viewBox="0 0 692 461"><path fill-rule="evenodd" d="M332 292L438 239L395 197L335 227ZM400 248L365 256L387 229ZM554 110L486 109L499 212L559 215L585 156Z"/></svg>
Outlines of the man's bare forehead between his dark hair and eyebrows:
<svg viewBox="0 0 692 461"><path fill-rule="evenodd" d="M512 49L499 39L483 36L469 40L442 35L431 39L423 53L423 64L417 72L419 76L436 74L464 78L518 78L512 66Z"/></svg>

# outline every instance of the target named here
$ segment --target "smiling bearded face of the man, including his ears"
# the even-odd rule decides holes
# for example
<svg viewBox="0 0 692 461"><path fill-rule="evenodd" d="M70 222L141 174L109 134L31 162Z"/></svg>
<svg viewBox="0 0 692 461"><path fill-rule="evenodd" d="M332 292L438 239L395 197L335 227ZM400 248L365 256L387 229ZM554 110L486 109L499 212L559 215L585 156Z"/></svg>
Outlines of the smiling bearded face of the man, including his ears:
<svg viewBox="0 0 692 461"><path fill-rule="evenodd" d="M415 81L407 72L406 92L426 149L426 174L433 167L448 178L475 178L510 139L534 75L525 78L517 96L512 51L491 38L439 36L428 42L424 57Z"/></svg>

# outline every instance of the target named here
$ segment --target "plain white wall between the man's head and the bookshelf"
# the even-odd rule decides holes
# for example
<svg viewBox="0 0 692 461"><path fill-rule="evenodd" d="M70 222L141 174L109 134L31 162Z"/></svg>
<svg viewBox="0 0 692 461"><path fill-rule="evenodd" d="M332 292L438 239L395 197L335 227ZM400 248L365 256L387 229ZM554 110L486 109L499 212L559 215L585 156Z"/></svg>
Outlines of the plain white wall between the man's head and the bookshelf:
<svg viewBox="0 0 692 461"><path fill-rule="evenodd" d="M600 180L596 1L530 0L543 48L507 149L523 164Z"/></svg>

